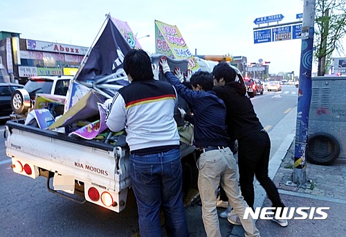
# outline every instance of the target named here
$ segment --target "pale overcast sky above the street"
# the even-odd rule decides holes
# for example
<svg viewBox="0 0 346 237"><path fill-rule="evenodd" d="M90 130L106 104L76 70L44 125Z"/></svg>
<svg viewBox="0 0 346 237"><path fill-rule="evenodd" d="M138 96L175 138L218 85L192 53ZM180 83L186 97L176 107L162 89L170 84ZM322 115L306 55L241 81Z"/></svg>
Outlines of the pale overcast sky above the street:
<svg viewBox="0 0 346 237"><path fill-rule="evenodd" d="M279 22L290 23L298 21L295 16L302 12L302 0L1 0L0 31L90 47L109 13L127 21L143 49L155 53L154 21L158 20L177 26L193 54L197 50L197 55L242 55L248 62L262 59L271 62L269 73L298 75L301 40L254 44L257 25L253 21L282 14Z"/></svg>

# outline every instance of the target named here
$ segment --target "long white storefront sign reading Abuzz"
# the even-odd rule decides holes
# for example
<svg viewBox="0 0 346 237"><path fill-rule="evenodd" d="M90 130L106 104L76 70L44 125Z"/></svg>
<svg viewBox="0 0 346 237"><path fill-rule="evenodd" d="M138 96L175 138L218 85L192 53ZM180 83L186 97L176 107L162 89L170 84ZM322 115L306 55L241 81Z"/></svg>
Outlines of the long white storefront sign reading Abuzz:
<svg viewBox="0 0 346 237"><path fill-rule="evenodd" d="M28 50L38 50L55 53L69 53L72 55L85 55L88 48L81 46L71 46L67 44L57 44L46 41L37 41L33 39L26 40L26 48Z"/></svg>

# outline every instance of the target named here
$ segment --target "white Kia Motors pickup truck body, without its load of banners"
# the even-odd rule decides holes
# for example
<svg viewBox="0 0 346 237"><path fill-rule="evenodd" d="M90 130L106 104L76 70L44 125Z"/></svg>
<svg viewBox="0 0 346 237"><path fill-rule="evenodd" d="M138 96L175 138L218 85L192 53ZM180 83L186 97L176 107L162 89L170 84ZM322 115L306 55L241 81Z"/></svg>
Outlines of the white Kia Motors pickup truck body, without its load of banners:
<svg viewBox="0 0 346 237"><path fill-rule="evenodd" d="M20 120L6 122L4 135L15 173L33 179L44 176L48 191L76 202L93 202L116 212L125 209L131 187L125 136L120 135L114 146L27 126ZM186 194L197 189L194 146L182 143L181 155Z"/></svg>

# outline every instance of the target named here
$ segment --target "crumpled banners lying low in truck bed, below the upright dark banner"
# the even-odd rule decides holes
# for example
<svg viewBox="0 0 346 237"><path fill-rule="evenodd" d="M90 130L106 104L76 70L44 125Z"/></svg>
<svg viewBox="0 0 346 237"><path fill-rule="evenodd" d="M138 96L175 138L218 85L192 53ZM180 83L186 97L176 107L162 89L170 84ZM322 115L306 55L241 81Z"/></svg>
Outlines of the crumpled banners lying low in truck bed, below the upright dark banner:
<svg viewBox="0 0 346 237"><path fill-rule="evenodd" d="M37 94L35 106L26 117L25 124L48 129L86 140L97 140L116 145L125 130L112 133L104 122L108 99L98 91L71 82L69 92L64 96ZM184 124L178 127L181 142L192 144L193 127Z"/></svg>

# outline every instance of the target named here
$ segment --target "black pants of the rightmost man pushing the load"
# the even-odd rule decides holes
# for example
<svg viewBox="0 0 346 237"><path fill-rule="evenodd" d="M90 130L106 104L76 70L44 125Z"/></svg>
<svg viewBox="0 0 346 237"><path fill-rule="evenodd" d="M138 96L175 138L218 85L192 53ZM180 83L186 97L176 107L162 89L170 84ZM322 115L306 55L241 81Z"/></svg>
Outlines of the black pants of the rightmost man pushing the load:
<svg viewBox="0 0 346 237"><path fill-rule="evenodd" d="M255 191L253 177L256 176L266 191L273 207L284 207L273 181L268 177L268 163L271 152L271 140L268 133L258 131L238 140L239 184L242 196L253 209Z"/></svg>

